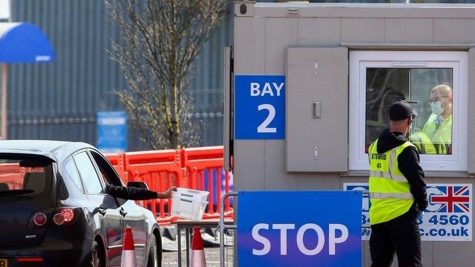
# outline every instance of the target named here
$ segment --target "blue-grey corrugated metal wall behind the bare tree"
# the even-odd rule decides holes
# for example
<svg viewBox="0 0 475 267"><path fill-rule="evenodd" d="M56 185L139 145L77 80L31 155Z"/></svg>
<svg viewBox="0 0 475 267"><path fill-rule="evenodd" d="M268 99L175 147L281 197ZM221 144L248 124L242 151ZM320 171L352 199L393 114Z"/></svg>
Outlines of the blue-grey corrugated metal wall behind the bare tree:
<svg viewBox="0 0 475 267"><path fill-rule="evenodd" d="M38 25L52 42L56 61L9 69L10 139L55 139L95 144L97 111L121 110L115 89L127 87L106 53L118 27L106 18L102 0L13 0L13 21ZM201 145L222 143L222 51L232 42L230 17L197 60L190 92L193 118L201 122ZM149 147L129 130L128 150Z"/></svg>

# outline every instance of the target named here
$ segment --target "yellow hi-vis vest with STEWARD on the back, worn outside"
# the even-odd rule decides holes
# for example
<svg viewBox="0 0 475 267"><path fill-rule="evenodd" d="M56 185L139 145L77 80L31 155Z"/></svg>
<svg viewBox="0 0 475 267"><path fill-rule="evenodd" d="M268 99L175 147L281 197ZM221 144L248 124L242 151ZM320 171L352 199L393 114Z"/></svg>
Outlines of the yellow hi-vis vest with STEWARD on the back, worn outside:
<svg viewBox="0 0 475 267"><path fill-rule="evenodd" d="M378 140L368 150L369 156L369 221L387 222L409 211L414 197L409 182L398 167L398 156L411 142L405 142L384 153L378 153Z"/></svg>

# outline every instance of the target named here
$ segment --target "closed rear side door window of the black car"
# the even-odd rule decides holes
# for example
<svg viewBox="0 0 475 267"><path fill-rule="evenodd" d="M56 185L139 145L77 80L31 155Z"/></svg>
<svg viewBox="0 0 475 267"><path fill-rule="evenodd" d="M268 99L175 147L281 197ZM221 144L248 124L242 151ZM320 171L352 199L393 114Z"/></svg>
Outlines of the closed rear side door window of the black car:
<svg viewBox="0 0 475 267"><path fill-rule="evenodd" d="M91 159L86 152L81 152L73 156L77 169L84 181L84 186L88 193L102 193L102 184L97 176L97 172L92 165Z"/></svg>

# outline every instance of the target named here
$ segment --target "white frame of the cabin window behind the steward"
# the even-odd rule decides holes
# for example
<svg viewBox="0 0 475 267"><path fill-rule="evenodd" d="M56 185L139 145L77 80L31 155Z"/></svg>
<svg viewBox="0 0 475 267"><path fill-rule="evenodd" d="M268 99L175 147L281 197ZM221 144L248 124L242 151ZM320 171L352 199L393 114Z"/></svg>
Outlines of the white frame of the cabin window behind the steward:
<svg viewBox="0 0 475 267"><path fill-rule="evenodd" d="M453 69L452 155L420 155L425 171L467 171L468 52L350 51L348 169L368 170L365 153L366 68Z"/></svg>

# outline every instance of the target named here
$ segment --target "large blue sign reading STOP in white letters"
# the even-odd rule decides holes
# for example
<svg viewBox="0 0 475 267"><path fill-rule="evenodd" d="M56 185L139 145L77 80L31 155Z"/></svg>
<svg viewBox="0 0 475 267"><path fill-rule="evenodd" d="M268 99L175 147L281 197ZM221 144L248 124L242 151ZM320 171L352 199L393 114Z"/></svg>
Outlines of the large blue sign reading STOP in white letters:
<svg viewBox="0 0 475 267"><path fill-rule="evenodd" d="M239 266L362 266L362 192L239 192L237 201Z"/></svg>

